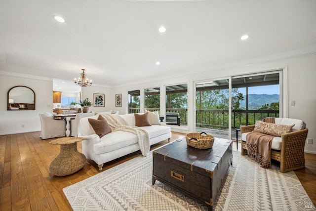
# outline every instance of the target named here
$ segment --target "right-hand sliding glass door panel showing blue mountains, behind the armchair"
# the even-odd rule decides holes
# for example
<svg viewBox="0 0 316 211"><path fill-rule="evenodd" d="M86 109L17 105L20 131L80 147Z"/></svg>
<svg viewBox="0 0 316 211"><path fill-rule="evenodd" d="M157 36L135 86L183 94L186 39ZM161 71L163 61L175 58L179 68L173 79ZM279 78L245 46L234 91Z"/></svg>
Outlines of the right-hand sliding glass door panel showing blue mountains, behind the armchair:
<svg viewBox="0 0 316 211"><path fill-rule="evenodd" d="M232 77L233 90L238 90L243 96L235 107L232 103L232 128L253 125L265 117L279 117L282 107L280 76L281 71L275 71ZM234 132L232 137L235 137Z"/></svg>

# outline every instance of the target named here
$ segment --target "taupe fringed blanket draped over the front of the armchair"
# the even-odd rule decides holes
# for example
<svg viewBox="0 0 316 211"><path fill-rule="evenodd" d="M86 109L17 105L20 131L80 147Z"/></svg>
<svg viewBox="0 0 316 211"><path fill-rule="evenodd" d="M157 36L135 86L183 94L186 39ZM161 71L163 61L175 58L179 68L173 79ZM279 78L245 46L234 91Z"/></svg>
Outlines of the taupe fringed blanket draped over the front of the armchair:
<svg viewBox="0 0 316 211"><path fill-rule="evenodd" d="M248 155L255 160L263 168L271 166L271 144L274 135L267 135L261 132L250 132L246 137Z"/></svg>

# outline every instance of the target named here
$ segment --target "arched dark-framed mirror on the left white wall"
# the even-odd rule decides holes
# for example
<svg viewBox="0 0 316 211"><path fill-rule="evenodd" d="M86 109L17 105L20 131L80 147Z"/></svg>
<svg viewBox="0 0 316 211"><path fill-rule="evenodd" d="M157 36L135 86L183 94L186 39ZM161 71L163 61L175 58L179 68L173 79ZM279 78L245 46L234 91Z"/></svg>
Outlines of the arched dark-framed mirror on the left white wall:
<svg viewBox="0 0 316 211"><path fill-rule="evenodd" d="M8 111L35 110L35 92L24 86L14 86L8 90Z"/></svg>

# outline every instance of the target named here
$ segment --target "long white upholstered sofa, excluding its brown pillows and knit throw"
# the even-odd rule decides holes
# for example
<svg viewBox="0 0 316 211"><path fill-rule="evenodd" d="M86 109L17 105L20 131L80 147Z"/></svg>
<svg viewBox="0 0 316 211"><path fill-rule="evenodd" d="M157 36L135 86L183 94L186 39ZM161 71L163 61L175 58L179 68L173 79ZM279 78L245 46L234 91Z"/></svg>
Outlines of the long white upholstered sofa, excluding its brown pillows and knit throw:
<svg viewBox="0 0 316 211"><path fill-rule="evenodd" d="M80 120L80 137L85 137L82 141L82 153L87 159L93 160L102 170L103 164L129 153L140 150L137 136L126 131L114 131L100 138L97 134L93 134L88 119L98 119L99 115L85 117ZM129 126L135 126L134 114L119 115ZM163 140L170 140L171 128L166 127L165 123L160 125L152 125L141 127L149 132L150 145L156 144Z"/></svg>

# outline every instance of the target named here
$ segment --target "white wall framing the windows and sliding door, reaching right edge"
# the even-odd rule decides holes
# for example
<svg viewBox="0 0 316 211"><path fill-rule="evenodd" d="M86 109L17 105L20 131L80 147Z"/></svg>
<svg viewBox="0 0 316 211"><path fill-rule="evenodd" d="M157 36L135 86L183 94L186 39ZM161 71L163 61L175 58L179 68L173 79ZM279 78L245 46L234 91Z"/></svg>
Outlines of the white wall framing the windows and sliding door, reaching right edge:
<svg viewBox="0 0 316 211"><path fill-rule="evenodd" d="M301 119L309 128L308 138L313 139L313 144L305 145L305 152L316 153L316 54L302 57L271 61L261 64L245 65L239 67L230 67L223 69L209 69L201 72L201 70L192 70L191 75L187 76L164 76L154 82L146 82L141 84L133 84L127 86L116 87L114 92L122 94L122 107L119 109L120 114L127 113L128 107L128 91L140 89L141 93L144 88L160 87L162 92L165 85L188 83L188 112L189 124L188 130L181 132L193 132L194 130L194 105L195 97L193 84L199 80L212 80L226 78L229 76L245 75L250 73L259 73L264 71L273 71L287 68L288 70L288 118ZM286 93L286 92L285 92ZM290 106L289 101L295 100L295 106ZM164 106L164 100L160 103ZM164 108L161 108L163 111ZM176 127L173 128L177 131Z"/></svg>

